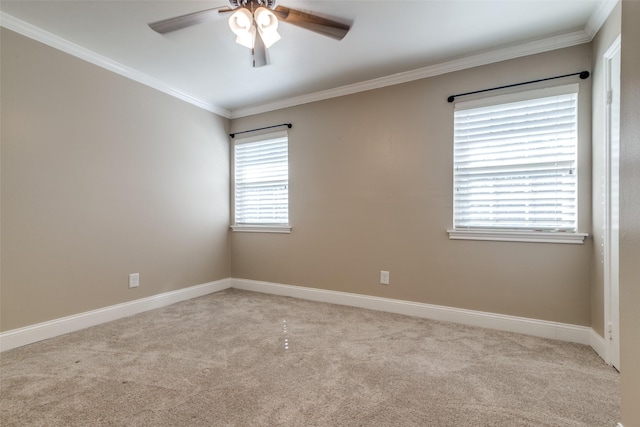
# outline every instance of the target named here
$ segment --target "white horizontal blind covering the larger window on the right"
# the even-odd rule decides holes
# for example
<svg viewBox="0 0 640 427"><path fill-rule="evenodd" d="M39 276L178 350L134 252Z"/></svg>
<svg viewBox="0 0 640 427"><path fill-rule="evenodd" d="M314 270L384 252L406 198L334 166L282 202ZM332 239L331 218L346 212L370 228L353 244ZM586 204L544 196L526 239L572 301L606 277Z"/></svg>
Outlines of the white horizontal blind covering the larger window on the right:
<svg viewBox="0 0 640 427"><path fill-rule="evenodd" d="M577 87L540 93L456 106L455 229L576 231Z"/></svg>

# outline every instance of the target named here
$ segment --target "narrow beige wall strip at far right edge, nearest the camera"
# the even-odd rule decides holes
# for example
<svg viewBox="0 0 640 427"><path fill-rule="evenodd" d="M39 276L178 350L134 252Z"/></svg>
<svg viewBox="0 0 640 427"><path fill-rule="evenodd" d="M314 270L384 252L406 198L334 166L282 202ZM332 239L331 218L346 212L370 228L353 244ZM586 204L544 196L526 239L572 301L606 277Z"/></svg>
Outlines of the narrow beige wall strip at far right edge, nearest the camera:
<svg viewBox="0 0 640 427"><path fill-rule="evenodd" d="M622 2L620 353L622 422L640 426L640 2Z"/></svg>

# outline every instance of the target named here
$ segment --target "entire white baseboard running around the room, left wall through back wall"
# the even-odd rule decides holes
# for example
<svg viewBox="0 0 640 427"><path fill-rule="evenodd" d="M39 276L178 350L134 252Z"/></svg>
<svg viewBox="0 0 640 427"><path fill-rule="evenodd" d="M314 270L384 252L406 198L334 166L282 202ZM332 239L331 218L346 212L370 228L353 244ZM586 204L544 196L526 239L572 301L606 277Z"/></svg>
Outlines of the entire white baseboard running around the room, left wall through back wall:
<svg viewBox="0 0 640 427"><path fill-rule="evenodd" d="M348 305L352 307L404 314L407 316L461 323L470 326L479 326L543 338L575 342L590 345L605 361L607 360L607 347L604 338L600 337L600 335L598 335L593 329L586 326L381 298L369 295L235 278L222 279L185 289L166 292L135 301L3 332L0 333L0 352L228 288L290 296L332 304Z"/></svg>

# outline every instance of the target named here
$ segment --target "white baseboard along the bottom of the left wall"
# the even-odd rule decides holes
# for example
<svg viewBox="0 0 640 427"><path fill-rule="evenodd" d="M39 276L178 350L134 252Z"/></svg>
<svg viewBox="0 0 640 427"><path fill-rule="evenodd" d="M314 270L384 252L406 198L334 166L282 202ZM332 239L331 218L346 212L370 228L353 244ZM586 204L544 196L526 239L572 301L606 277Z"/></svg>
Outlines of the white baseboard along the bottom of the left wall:
<svg viewBox="0 0 640 427"><path fill-rule="evenodd" d="M97 310L74 314L0 334L0 352L32 344L58 335L132 316L144 311L164 307L176 302L218 292L231 287L231 279L222 279L202 285L178 289L135 301L112 305Z"/></svg>

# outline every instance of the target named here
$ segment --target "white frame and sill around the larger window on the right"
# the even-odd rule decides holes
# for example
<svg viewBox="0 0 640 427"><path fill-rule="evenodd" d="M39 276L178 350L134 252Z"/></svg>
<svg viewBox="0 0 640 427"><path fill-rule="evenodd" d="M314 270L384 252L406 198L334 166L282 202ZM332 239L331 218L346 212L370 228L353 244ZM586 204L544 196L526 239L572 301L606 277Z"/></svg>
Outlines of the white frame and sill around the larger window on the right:
<svg viewBox="0 0 640 427"><path fill-rule="evenodd" d="M577 96L576 106L576 132L577 132L577 144L576 144L576 171L579 169L579 150L580 150L580 105L579 105L579 85L569 84L563 86L547 87L543 89L533 89L527 91L519 91L506 95L499 95L493 97L483 97L474 99L471 101L463 101L456 103L456 110L469 110L474 108L499 106L503 104L509 104L513 102L526 101L540 99L550 96L563 95L575 93ZM453 140L453 139L452 139ZM455 143L454 143L455 144ZM453 146L455 149L455 145ZM453 150L452 150L453 153ZM569 244L583 244L587 233L578 232L579 227L579 193L580 183L579 175L576 175L576 228L575 230L535 230L533 228L482 228L482 227L455 227L455 160L452 159L452 165L454 167L452 171L452 220L453 227L447 230L449 239L451 240L489 240L489 241L508 241L508 242L543 242L543 243L569 243Z"/></svg>

